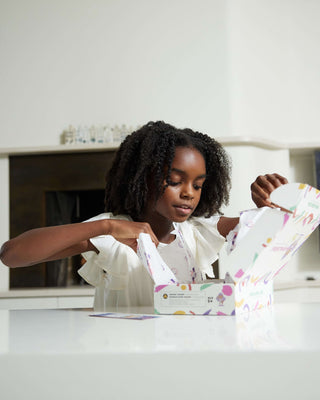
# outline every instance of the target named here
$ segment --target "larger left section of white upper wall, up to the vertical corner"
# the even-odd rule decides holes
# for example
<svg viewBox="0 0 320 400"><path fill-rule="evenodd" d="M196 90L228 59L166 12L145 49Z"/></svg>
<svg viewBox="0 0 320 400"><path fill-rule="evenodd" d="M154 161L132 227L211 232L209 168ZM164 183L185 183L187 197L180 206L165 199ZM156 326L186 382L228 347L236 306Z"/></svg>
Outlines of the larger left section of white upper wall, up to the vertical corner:
<svg viewBox="0 0 320 400"><path fill-rule="evenodd" d="M224 0L2 0L0 147L70 123L227 133Z"/></svg>

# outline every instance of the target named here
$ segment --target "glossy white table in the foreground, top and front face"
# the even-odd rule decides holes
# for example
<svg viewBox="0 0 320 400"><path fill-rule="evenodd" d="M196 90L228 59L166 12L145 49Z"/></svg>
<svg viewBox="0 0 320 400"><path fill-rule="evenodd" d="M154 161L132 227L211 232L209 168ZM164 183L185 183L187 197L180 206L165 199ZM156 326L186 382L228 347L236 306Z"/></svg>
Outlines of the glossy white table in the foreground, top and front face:
<svg viewBox="0 0 320 400"><path fill-rule="evenodd" d="M0 398L320 398L320 303L241 317L91 313L0 310Z"/></svg>

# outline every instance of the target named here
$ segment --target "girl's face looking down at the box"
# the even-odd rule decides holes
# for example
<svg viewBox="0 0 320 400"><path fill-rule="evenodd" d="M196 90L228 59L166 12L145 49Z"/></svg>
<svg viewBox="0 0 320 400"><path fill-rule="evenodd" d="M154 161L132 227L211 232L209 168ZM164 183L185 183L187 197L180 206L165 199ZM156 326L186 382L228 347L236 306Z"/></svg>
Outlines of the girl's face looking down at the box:
<svg viewBox="0 0 320 400"><path fill-rule="evenodd" d="M196 209L206 165L202 154L195 148L177 147L166 189L157 200L154 212L173 222L187 220Z"/></svg>

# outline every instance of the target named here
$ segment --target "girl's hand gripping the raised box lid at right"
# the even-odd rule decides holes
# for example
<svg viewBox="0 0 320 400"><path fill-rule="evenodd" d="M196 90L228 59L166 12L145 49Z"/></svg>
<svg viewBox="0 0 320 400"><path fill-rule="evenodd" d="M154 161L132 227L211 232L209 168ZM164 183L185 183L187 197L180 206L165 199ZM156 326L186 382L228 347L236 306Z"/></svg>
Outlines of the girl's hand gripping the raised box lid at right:
<svg viewBox="0 0 320 400"><path fill-rule="evenodd" d="M259 175L251 185L251 197L257 207L274 207L270 194L277 187L288 183L287 179L279 174Z"/></svg>

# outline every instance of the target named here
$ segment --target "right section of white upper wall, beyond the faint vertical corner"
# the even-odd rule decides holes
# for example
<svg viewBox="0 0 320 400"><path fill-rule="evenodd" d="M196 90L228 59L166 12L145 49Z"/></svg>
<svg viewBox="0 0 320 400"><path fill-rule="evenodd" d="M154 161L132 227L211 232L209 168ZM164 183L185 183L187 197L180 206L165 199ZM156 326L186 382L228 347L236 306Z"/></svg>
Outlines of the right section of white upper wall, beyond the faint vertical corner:
<svg viewBox="0 0 320 400"><path fill-rule="evenodd" d="M320 2L228 2L230 133L319 140Z"/></svg>

